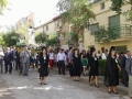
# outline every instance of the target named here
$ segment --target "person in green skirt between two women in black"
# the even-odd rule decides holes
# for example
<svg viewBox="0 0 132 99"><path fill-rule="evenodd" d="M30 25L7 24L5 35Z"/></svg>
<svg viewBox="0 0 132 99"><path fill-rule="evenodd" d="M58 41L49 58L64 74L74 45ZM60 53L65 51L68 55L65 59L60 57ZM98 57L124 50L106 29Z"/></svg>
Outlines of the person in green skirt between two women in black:
<svg viewBox="0 0 132 99"><path fill-rule="evenodd" d="M87 55L86 55L86 51L82 51L82 54L81 54L81 65L82 65L82 68L84 68L84 76L86 76L86 68L87 68Z"/></svg>

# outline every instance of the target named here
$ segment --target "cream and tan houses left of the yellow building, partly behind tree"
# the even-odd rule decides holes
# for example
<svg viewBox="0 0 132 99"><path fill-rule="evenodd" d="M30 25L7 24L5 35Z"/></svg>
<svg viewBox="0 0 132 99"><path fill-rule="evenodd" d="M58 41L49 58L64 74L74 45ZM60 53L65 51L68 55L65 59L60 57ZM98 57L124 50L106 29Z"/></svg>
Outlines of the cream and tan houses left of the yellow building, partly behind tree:
<svg viewBox="0 0 132 99"><path fill-rule="evenodd" d="M35 31L38 33L45 33L48 37L51 33L55 33L61 37L63 35L63 38L61 40L61 47L64 50L68 50L67 45L67 33L70 32L70 25L66 23L63 25L61 15L53 18L51 21L35 28Z"/></svg>

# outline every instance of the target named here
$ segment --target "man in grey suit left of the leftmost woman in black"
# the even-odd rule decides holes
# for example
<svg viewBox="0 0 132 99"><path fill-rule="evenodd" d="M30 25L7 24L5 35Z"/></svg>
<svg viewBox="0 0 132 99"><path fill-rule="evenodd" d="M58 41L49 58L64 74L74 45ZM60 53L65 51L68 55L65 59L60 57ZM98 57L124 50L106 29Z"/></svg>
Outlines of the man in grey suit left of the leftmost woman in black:
<svg viewBox="0 0 132 99"><path fill-rule="evenodd" d="M28 76L30 67L30 53L28 51L28 47L24 47L24 50L20 53L20 56L23 57L23 76Z"/></svg>

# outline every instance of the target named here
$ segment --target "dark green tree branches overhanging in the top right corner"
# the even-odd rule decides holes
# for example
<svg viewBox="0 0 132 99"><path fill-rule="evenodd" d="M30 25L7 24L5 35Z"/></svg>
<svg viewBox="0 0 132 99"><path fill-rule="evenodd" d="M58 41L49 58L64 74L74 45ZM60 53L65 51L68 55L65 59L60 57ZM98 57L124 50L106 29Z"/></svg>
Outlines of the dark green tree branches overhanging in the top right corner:
<svg viewBox="0 0 132 99"><path fill-rule="evenodd" d="M117 13L119 14L123 14L127 16L127 21L132 21L132 8L130 8L130 10L122 12L121 7L124 3L129 3L132 6L132 0L111 0L112 4L111 4L111 10L112 11L117 11Z"/></svg>

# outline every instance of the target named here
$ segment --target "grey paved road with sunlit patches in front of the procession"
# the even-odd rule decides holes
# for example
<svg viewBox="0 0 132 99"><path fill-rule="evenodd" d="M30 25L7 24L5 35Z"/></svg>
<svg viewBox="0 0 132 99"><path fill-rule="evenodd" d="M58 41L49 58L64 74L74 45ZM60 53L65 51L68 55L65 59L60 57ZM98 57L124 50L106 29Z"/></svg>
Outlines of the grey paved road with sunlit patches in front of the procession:
<svg viewBox="0 0 132 99"><path fill-rule="evenodd" d="M119 95L109 95L99 81L100 88L91 87L87 77L73 81L68 76L57 75L51 70L47 85L38 84L36 69L31 69L28 77L12 75L0 76L0 99L129 99L124 87L119 87Z"/></svg>

